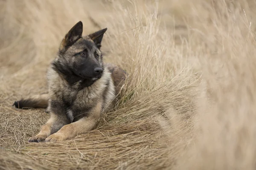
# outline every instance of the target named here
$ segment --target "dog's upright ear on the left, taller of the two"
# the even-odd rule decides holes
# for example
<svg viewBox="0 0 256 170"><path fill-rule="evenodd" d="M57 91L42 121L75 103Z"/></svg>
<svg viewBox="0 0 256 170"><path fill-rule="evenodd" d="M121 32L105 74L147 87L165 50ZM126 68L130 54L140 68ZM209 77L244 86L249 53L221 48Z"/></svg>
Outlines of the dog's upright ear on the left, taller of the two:
<svg viewBox="0 0 256 170"><path fill-rule="evenodd" d="M78 39L82 37L83 33L83 23L79 21L73 26L70 31L65 35L64 39L61 41L60 51L73 45Z"/></svg>

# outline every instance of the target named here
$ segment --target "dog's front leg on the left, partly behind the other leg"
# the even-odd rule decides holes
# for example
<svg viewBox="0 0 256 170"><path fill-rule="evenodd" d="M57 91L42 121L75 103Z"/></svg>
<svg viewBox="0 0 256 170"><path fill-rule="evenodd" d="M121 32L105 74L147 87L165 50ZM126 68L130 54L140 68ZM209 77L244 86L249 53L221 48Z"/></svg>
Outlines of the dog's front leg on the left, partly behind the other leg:
<svg viewBox="0 0 256 170"><path fill-rule="evenodd" d="M55 113L51 113L50 119L41 128L40 132L36 136L29 138L29 142L41 142L44 141L52 133L57 132L61 127L69 123L68 119L64 116L58 116Z"/></svg>

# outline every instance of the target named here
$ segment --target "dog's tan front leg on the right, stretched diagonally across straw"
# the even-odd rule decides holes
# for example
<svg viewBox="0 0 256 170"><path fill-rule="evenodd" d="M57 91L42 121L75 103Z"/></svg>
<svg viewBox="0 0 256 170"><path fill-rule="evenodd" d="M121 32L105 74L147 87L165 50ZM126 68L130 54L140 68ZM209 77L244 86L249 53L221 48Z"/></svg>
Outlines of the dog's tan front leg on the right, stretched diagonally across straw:
<svg viewBox="0 0 256 170"><path fill-rule="evenodd" d="M102 103L99 102L94 108L92 108L87 117L83 117L76 122L61 127L58 132L47 137L45 141L64 141L93 129L99 119L101 108Z"/></svg>

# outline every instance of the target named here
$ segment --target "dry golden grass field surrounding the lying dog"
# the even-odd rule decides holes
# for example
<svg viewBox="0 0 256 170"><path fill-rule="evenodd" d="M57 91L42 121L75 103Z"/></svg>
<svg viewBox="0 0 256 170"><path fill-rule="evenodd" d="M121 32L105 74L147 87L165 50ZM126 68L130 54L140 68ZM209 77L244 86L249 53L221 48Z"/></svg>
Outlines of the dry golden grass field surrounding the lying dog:
<svg viewBox="0 0 256 170"><path fill-rule="evenodd" d="M255 18L255 0L0 0L0 169L254 170ZM79 20L108 28L121 100L95 130L28 143L49 114L12 104L46 91Z"/></svg>

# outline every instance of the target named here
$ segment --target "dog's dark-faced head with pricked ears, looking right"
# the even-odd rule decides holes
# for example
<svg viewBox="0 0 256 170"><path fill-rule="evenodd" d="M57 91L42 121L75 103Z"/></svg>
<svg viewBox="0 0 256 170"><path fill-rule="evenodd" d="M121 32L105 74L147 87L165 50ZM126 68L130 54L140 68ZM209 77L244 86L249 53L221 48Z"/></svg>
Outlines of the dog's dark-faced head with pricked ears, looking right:
<svg viewBox="0 0 256 170"><path fill-rule="evenodd" d="M70 82L96 80L104 71L100 51L103 34L107 28L82 37L83 23L79 21L61 41L53 65Z"/></svg>

